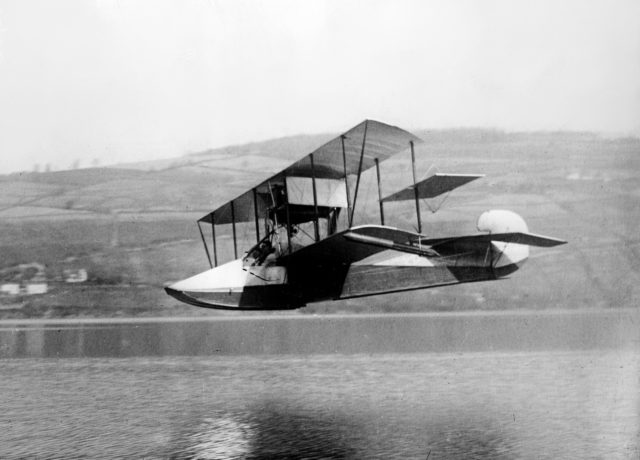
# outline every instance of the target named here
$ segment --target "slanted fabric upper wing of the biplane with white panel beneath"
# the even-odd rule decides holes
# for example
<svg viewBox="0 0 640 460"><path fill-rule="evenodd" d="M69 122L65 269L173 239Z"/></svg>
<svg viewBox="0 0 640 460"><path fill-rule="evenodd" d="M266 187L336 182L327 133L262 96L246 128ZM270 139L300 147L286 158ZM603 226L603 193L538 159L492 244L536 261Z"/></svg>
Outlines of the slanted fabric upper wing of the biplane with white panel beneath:
<svg viewBox="0 0 640 460"><path fill-rule="evenodd" d="M326 205L337 206L339 204L346 207L346 198L340 196L344 196L346 189L339 188L335 180L344 179L345 172L346 175L358 174L359 171L373 167L376 159L379 162L384 161L396 153L408 149L410 142L417 144L422 140L396 126L365 120L267 180L249 187L247 192L203 216L199 221L230 224L234 221L237 223L251 222L255 219L256 212L259 216L264 216L275 199L272 196L272 187L276 185L284 187L295 184L302 187L301 194L304 195L304 198L298 196L298 199L304 201L302 204L309 204L309 196L313 200L313 196L309 195L311 181L309 181L309 186L306 183L295 182L299 181L299 178L305 177L327 179L326 182L316 180L319 206L323 205L320 203L322 197L323 200L329 200ZM361 159L362 166L360 166ZM286 180L286 178L290 180ZM328 179L333 179L333 181ZM290 198L295 195L295 192L291 192L293 192L293 187L290 191ZM254 200L254 196L256 200Z"/></svg>

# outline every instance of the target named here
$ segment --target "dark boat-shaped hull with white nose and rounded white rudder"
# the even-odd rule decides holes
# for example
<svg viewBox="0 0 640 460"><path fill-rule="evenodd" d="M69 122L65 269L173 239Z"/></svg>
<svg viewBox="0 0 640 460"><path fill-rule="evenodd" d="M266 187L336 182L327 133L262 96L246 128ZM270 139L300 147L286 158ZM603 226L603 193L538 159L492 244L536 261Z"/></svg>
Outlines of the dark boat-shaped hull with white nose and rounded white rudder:
<svg viewBox="0 0 640 460"><path fill-rule="evenodd" d="M484 213L478 227L489 234L527 231L522 218L508 211ZM237 259L166 291L199 307L289 310L324 300L495 280L516 271L529 256L526 244L490 239L452 238L426 250L402 243L414 236L420 235L383 226L354 228L271 265ZM389 240L393 237L398 241Z"/></svg>

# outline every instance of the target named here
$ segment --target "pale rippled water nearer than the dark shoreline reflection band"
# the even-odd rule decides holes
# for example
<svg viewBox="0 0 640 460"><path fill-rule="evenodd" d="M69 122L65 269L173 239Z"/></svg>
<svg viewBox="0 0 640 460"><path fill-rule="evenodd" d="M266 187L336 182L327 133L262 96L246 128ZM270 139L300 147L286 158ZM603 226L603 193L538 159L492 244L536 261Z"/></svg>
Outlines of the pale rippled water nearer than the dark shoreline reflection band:
<svg viewBox="0 0 640 460"><path fill-rule="evenodd" d="M3 359L0 457L638 458L625 344Z"/></svg>

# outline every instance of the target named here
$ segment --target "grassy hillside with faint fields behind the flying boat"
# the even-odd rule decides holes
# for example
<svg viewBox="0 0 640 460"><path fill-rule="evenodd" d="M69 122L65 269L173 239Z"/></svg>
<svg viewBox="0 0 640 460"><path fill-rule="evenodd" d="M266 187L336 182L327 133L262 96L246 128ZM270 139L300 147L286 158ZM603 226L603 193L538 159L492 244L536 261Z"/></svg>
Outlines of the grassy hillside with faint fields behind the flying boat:
<svg viewBox="0 0 640 460"><path fill-rule="evenodd" d="M534 248L509 280L304 311L634 306L640 294L639 140L488 130L417 134L425 139L417 152L419 175L436 167L487 174L425 215L425 233L473 233L482 211L507 208L523 215L531 231L570 244ZM77 267L91 278L77 286L54 283L50 294L30 297L22 313L4 314L208 314L179 306L160 289L206 268L194 221L329 137L277 139L131 167L0 176L0 268L38 261L50 279ZM408 155L382 170L387 192L406 185ZM363 178L361 222L377 219L373 179ZM396 226L415 225L411 203L390 204L387 214Z"/></svg>

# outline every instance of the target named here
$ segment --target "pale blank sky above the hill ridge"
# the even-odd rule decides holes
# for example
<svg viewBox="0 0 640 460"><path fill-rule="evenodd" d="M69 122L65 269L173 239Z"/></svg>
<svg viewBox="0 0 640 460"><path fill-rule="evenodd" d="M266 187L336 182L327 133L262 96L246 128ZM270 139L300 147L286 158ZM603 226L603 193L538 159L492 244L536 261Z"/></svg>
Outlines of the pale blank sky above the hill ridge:
<svg viewBox="0 0 640 460"><path fill-rule="evenodd" d="M364 118L640 135L640 2L0 0L0 173Z"/></svg>

